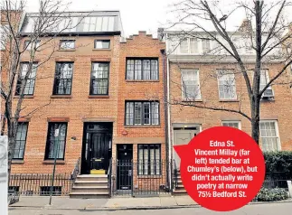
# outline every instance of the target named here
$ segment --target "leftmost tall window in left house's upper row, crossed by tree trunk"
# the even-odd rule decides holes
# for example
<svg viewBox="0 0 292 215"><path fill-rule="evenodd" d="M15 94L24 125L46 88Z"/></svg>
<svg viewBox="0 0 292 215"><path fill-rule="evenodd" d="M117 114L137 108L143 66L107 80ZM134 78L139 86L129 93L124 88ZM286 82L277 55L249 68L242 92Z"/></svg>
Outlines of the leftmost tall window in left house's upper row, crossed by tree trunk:
<svg viewBox="0 0 292 215"><path fill-rule="evenodd" d="M25 86L24 86L24 95L33 95L37 67L38 67L38 64L36 62L33 62L32 70L30 74L28 75ZM15 95L21 94L21 88L22 88L25 76L28 72L29 63L28 62L21 63L20 68L21 70L17 79Z"/></svg>

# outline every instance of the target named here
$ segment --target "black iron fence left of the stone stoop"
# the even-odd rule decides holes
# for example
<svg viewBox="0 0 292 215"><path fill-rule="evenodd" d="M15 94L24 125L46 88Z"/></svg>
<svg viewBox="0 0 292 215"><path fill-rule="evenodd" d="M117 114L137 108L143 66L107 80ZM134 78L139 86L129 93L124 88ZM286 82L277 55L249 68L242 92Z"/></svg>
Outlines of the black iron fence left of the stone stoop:
<svg viewBox="0 0 292 215"><path fill-rule="evenodd" d="M74 179L71 173L56 174L54 176L53 195L69 195ZM9 194L14 195L50 195L52 174L49 173L21 173L11 174Z"/></svg>

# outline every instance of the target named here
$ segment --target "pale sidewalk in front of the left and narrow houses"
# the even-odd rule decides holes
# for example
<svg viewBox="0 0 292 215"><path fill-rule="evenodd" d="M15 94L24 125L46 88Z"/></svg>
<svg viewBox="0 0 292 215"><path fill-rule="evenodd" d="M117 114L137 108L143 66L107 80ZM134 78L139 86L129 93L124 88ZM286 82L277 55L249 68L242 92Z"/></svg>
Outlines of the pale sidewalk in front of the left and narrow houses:
<svg viewBox="0 0 292 215"><path fill-rule="evenodd" d="M19 202L11 208L46 208L58 210L137 210L137 209L170 209L182 207L201 207L189 196L164 197L114 197L111 199L70 199L69 197L52 197L49 205L48 196L21 196Z"/></svg>

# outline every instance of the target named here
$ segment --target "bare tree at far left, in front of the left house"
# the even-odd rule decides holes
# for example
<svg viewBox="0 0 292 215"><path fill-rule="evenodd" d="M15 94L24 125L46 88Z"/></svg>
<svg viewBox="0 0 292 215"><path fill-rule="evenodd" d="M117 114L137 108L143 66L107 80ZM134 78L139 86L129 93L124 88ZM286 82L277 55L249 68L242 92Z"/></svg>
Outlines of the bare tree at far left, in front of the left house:
<svg viewBox="0 0 292 215"><path fill-rule="evenodd" d="M71 32L71 29L84 19L89 13L81 15L79 21L73 23L71 13L68 13L70 3L61 0L40 0L38 13L24 19L24 5L22 1L5 0L1 5L2 17L2 70L1 70L1 98L2 113L1 135L8 136L8 173L14 157L15 136L19 118L30 117L36 111L50 105L51 101L39 104L38 108L25 111L23 105L27 94L27 85L35 79L43 79L42 74L35 74L35 70L52 58L59 49L59 42L54 40L61 33ZM24 20L23 20L24 19ZM24 24L22 24L24 22ZM27 27L23 31L22 27ZM25 42L24 42L25 39ZM42 39L42 42L40 42ZM23 45L24 44L24 45ZM35 63L40 51L46 50L45 58ZM25 65L22 64L25 59ZM25 66L25 68L24 68ZM33 83L34 84L34 83ZM14 92L17 97L14 97ZM5 127L6 126L6 127Z"/></svg>

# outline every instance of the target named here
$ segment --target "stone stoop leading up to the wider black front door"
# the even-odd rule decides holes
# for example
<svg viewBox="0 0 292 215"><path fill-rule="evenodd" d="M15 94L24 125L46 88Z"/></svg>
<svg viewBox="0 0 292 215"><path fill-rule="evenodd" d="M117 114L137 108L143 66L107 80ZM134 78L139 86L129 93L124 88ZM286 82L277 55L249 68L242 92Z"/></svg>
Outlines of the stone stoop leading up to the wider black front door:
<svg viewBox="0 0 292 215"><path fill-rule="evenodd" d="M82 174L75 180L70 198L99 199L108 198L107 174Z"/></svg>

